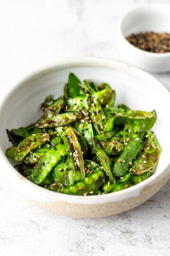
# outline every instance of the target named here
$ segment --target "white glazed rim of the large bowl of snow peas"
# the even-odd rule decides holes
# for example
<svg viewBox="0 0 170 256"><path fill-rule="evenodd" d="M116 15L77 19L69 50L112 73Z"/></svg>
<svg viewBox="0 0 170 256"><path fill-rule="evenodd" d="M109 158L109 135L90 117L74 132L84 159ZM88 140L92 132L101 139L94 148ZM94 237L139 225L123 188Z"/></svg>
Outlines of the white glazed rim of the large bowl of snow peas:
<svg viewBox="0 0 170 256"><path fill-rule="evenodd" d="M15 93L16 90L26 86L26 82L31 81L32 79L41 76L42 74L49 73L54 70L59 70L59 69L64 69L67 67L76 67L76 66L97 66L97 67L105 67L105 68L116 68L121 71L124 71L126 73L135 73L142 75L146 79L152 79L152 81L155 82L155 87L158 90L161 90L161 92L164 94L164 97L167 98L170 101L170 91L158 80L156 79L153 75L135 67L134 65L127 64L125 62L121 62L118 60L113 60L109 58L95 58L95 57L81 57L81 58L68 58L68 59L62 59L57 61L55 64L52 65L47 65L44 68L37 69L36 72L32 72L29 75L27 75L23 80L18 82L15 86L13 86L8 93L5 95L4 99L0 102L0 113L2 112L2 109L8 99L10 99L11 95ZM45 188L42 188L31 181L27 180L24 176L19 174L17 170L10 164L8 161L8 158L4 154L1 146L0 146L0 160L1 163L4 165L7 165L10 169L8 172L11 172L13 174L13 177L15 176L18 181L20 182L25 182L25 185L27 187L32 187L34 188L34 192L41 193L42 197L50 198L50 201L61 201L61 202L66 202L66 203L74 203L74 204L82 204L82 205L93 205L93 204L103 204L103 203L109 203L112 201L121 201L124 200L125 198L128 197L128 194L132 196L136 196L137 194L140 193L140 191L148 186L151 183L155 183L156 180L160 180L161 176L165 176L170 172L170 163L160 172L160 173L155 173L142 183L136 184L130 188L127 188L126 190L121 190L118 192L114 193L108 193L108 194L103 194L103 195L93 195L93 196L78 196L78 195L68 195L68 194L62 194L58 192L53 192L50 190L47 190ZM132 196L132 197L133 197Z"/></svg>

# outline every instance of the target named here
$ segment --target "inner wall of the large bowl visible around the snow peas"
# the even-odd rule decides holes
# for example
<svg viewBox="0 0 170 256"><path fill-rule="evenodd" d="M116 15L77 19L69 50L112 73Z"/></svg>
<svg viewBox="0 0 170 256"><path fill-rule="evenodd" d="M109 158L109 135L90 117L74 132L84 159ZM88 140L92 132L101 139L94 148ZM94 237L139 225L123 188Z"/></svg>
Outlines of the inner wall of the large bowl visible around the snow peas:
<svg viewBox="0 0 170 256"><path fill-rule="evenodd" d="M93 80L97 84L108 82L116 90L116 104L124 103L135 110L153 109L157 112L157 121L153 131L158 138L162 153L156 172L161 172L170 161L170 95L151 75L134 67L114 62L113 67L91 64L66 64L38 73L22 82L4 102L0 111L0 146L5 150L11 146L6 129L24 127L34 123L41 115L40 104L49 94L59 97L63 86L68 82L69 72L75 73L81 80Z"/></svg>

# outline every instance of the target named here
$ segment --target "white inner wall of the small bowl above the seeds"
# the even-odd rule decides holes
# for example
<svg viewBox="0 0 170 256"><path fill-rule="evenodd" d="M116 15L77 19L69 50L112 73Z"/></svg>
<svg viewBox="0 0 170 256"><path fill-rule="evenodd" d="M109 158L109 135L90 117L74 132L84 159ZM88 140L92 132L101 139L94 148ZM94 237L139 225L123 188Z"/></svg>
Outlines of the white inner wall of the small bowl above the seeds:
<svg viewBox="0 0 170 256"><path fill-rule="evenodd" d="M124 37L145 31L170 33L170 6L146 5L127 13L121 22Z"/></svg>

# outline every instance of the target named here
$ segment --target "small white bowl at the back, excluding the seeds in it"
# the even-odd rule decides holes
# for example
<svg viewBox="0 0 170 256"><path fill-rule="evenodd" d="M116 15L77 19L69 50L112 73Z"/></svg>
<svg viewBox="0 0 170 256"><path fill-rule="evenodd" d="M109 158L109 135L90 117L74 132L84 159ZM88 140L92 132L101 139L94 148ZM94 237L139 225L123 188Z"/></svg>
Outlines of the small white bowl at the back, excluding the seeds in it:
<svg viewBox="0 0 170 256"><path fill-rule="evenodd" d="M145 31L170 33L170 5L146 4L127 12L118 24L119 51L128 63L148 72L170 71L170 53L150 53L126 39L129 34Z"/></svg>

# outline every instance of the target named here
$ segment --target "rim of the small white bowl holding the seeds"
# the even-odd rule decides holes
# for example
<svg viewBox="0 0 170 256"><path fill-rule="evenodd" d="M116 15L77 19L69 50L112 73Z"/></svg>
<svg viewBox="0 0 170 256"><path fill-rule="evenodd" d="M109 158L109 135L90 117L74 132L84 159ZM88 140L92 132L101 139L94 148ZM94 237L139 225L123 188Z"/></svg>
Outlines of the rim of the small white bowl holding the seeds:
<svg viewBox="0 0 170 256"><path fill-rule="evenodd" d="M157 8L168 8L170 9L170 5L169 4L160 4L160 3L149 3L149 4L143 4L143 5L138 5L137 7L134 7L130 10L128 10L118 21L118 34L121 37L121 39L123 40L123 42L127 45L127 47L130 47L132 50L136 51L137 53L149 56L149 57L170 57L170 52L168 53L151 53L151 52L147 52L144 51L140 48L137 48L136 46L133 46L132 44L130 44L126 37L123 35L122 32L122 23L124 22L124 19L129 16L130 14L132 14L133 12L135 12L138 9L144 9L144 8L151 8L154 11L154 7Z"/></svg>

